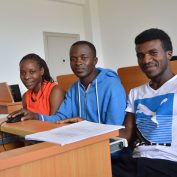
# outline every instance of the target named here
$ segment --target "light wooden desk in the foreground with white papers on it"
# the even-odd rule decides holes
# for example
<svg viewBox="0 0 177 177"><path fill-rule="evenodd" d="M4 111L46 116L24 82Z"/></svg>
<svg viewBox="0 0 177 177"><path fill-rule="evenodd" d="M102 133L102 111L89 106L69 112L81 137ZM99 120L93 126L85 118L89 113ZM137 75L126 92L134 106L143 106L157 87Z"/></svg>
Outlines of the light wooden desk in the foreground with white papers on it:
<svg viewBox="0 0 177 177"><path fill-rule="evenodd" d="M3 124L1 130L14 134L29 134L55 128L54 123L35 120ZM52 143L35 145L0 154L2 177L111 177L108 139L118 131L60 146Z"/></svg>

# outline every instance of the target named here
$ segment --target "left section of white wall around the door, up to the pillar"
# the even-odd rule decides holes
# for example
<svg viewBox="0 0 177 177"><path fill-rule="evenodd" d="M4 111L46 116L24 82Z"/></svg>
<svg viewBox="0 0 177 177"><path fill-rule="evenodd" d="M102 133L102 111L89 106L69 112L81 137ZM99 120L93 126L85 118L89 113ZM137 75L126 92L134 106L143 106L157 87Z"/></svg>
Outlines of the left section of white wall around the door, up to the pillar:
<svg viewBox="0 0 177 177"><path fill-rule="evenodd" d="M58 1L58 2L57 2ZM0 82L20 84L19 61L31 52L44 56L43 32L80 34L85 30L84 0L0 0Z"/></svg>

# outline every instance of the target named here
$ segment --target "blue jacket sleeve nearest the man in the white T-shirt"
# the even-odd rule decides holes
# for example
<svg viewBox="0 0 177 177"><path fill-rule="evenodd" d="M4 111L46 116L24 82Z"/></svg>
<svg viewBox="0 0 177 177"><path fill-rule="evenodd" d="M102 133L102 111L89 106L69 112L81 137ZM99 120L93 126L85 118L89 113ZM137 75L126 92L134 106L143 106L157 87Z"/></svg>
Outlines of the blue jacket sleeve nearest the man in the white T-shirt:
<svg viewBox="0 0 177 177"><path fill-rule="evenodd" d="M120 82L116 79L110 84L110 98L106 114L106 124L122 125L125 118L126 94Z"/></svg>

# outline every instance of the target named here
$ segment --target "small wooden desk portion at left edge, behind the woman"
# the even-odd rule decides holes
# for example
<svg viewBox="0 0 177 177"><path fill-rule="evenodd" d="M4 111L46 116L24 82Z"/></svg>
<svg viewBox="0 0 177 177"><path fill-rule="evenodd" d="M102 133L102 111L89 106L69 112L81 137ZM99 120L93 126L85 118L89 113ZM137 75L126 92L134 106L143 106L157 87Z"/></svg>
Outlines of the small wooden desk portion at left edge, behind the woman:
<svg viewBox="0 0 177 177"><path fill-rule="evenodd" d="M0 114L10 114L22 108L22 102L0 102Z"/></svg>

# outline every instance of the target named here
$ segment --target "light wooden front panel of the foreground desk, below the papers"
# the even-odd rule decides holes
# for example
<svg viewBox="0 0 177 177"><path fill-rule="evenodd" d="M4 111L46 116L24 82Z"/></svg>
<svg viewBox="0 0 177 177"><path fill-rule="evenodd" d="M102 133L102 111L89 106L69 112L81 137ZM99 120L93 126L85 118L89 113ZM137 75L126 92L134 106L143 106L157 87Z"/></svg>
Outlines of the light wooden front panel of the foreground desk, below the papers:
<svg viewBox="0 0 177 177"><path fill-rule="evenodd" d="M33 146L33 147L32 147ZM50 143L0 154L3 177L111 177L108 141L80 146L69 151ZM15 150L13 150L15 151Z"/></svg>

